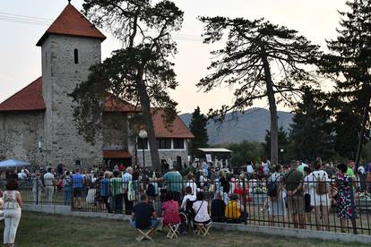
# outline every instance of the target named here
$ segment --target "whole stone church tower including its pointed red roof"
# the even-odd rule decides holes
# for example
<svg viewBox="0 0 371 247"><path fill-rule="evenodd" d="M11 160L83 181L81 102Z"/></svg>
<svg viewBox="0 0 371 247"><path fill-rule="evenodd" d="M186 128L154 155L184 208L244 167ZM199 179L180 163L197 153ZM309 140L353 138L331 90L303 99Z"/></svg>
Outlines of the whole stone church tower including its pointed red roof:
<svg viewBox="0 0 371 247"><path fill-rule="evenodd" d="M101 138L92 146L77 133L68 94L76 84L88 79L91 65L101 62L100 43L105 38L68 4L39 39L46 106L43 142L46 160L53 165L90 166L102 162Z"/></svg>

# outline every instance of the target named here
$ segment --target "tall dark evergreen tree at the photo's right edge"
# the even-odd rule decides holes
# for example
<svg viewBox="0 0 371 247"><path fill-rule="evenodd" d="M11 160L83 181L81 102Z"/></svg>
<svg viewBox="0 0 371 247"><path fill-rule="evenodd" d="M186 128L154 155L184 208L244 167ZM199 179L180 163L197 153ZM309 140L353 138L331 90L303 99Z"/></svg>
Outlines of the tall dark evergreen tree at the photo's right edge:
<svg viewBox="0 0 371 247"><path fill-rule="evenodd" d="M341 28L338 37L328 41L331 54L324 56L323 72L333 76L336 97L343 102L339 108L335 108L335 115L341 115L345 109L356 122L358 166L365 130L370 120L371 0L353 0L346 4L350 10L347 13L340 12Z"/></svg>

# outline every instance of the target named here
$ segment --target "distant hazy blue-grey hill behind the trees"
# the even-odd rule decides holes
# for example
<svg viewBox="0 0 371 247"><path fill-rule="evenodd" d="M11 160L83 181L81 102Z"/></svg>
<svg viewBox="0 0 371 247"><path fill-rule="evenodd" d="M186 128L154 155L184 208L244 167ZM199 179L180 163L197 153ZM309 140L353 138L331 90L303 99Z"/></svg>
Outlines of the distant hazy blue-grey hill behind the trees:
<svg viewBox="0 0 371 247"><path fill-rule="evenodd" d="M191 123L192 114L179 115L187 126ZM207 132L209 134L209 143L232 143L241 141L264 141L265 130L270 129L270 113L264 108L251 108L244 114L237 114L237 120L231 120L231 115L226 116L226 123L215 124L209 121ZM278 112L279 128L283 126L285 131L289 130L289 124L292 123L292 114L289 112Z"/></svg>

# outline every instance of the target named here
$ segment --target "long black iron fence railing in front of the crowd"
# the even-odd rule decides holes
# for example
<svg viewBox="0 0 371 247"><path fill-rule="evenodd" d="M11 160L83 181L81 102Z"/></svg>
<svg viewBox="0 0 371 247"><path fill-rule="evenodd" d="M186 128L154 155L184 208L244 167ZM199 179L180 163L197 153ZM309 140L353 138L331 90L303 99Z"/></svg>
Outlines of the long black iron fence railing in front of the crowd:
<svg viewBox="0 0 371 247"><path fill-rule="evenodd" d="M6 181L0 181L4 191ZM188 188L187 188L188 187ZM289 181L215 180L213 182L123 182L34 178L19 181L24 203L71 205L73 210L131 215L143 193L161 216L167 192L192 220L196 193L203 192L212 221L371 234L371 184L351 179ZM197 191L197 192L194 192ZM188 192L188 193L186 193ZM186 198L186 200L185 200ZM201 198L198 198L201 200Z"/></svg>

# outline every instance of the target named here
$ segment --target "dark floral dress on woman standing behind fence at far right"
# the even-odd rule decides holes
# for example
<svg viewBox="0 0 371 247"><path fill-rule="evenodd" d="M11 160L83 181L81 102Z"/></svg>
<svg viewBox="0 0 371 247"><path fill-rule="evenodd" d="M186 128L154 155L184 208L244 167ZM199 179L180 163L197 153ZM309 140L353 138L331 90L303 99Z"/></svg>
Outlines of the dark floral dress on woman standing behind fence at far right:
<svg viewBox="0 0 371 247"><path fill-rule="evenodd" d="M348 176L337 175L338 184L337 216L341 219L350 219L353 216L351 209L350 186ZM356 217L356 214L354 214Z"/></svg>

